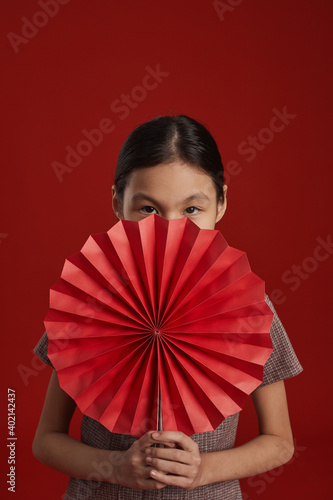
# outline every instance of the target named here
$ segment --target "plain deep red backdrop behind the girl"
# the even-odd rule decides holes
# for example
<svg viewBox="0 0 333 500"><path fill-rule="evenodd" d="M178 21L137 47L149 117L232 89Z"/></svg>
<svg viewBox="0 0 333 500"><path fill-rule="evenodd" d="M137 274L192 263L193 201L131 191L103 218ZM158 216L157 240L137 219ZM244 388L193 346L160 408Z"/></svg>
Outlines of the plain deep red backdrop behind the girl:
<svg viewBox="0 0 333 500"><path fill-rule="evenodd" d="M276 307L304 367L286 383L295 458L276 471L242 480L244 498L326 498L331 490L328 276L333 257L326 252L328 258L316 262L313 252L316 239L326 241L332 230L332 4L226 0L229 10L222 19L214 2L204 0L65 3L15 52L7 34L22 36L24 16L39 24L45 16L35 16L41 10L35 0L2 2L1 489L6 493L6 394L11 387L17 398L15 498L62 497L67 478L31 453L50 376L32 354L44 331L48 290L65 258L89 234L115 223L111 185L126 136L156 115L176 113L208 126L225 165L239 163L219 229L232 246L247 251L270 295L282 291L283 303ZM146 66L158 64L169 75L121 119L111 104L142 84ZM134 90L140 98L139 92ZM248 162L240 143L269 126L273 108L282 112L285 106L296 117ZM64 164L66 146L76 148L84 139L81 131L96 128L103 118L113 121L114 131L59 182L52 162ZM294 275L293 265L304 273L311 262L313 270L292 290L284 273ZM75 435L78 423L79 416ZM249 403L238 443L255 432Z"/></svg>

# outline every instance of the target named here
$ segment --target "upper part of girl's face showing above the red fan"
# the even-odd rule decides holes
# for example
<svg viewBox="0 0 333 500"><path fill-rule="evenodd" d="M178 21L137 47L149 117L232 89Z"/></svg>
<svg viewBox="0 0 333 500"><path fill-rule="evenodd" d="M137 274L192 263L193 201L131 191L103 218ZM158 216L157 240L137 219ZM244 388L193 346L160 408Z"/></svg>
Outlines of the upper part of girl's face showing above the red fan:
<svg viewBox="0 0 333 500"><path fill-rule="evenodd" d="M115 186L113 209L119 219L139 221L151 214L168 220L188 217L201 229L214 229L223 217L225 201L217 202L216 188L204 171L179 161L134 170L128 179L123 202Z"/></svg>

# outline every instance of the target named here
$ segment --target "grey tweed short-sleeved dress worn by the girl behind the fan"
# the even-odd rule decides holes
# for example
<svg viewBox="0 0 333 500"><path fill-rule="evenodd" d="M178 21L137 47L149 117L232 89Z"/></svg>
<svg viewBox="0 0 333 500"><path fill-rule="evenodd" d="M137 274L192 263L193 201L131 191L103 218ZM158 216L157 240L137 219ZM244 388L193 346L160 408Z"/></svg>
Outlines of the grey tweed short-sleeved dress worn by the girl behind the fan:
<svg viewBox="0 0 333 500"><path fill-rule="evenodd" d="M261 386L272 384L298 375L302 370L288 335L266 295L266 302L274 313L270 331L273 352L264 366L264 377ZM47 357L48 339L46 332L35 347L35 353L45 363L52 366ZM192 439L198 443L203 453L233 448L236 438L239 413L226 418L215 431L194 434ZM96 420L83 415L81 423L81 441L85 444L104 450L127 450L135 438L124 434L109 432ZM98 471L96 471L98 472ZM85 481L70 478L64 500L241 500L242 493L239 481L225 481L201 486L192 491L184 491L174 486L166 486L162 490L136 491L120 485L103 481Z"/></svg>

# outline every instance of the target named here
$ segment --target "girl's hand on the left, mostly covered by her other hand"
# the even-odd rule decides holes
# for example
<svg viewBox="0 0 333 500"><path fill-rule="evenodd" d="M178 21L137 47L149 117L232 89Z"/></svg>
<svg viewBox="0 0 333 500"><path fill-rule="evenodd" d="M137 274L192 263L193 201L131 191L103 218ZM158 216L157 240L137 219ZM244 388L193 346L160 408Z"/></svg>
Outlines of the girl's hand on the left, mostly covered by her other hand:
<svg viewBox="0 0 333 500"><path fill-rule="evenodd" d="M127 486L133 490L159 490L165 488L166 484L155 479L152 475L152 467L146 461L146 450L156 440L152 438L152 434L156 431L149 431L140 439L135 441L132 446L126 451L115 452L112 458L113 480L116 484ZM164 443L166 446L174 447L174 443ZM164 474L162 474L164 476Z"/></svg>

